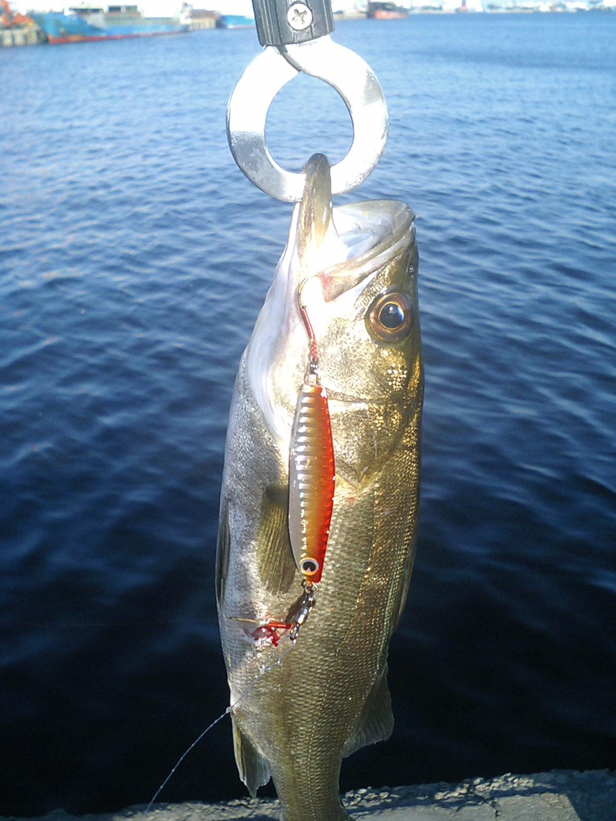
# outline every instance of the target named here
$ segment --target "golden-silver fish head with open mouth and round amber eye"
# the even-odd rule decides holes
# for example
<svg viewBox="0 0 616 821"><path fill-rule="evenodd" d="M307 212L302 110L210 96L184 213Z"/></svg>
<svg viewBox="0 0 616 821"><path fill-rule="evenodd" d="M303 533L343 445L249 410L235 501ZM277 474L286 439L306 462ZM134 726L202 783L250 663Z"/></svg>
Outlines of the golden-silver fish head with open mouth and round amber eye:
<svg viewBox="0 0 616 821"><path fill-rule="evenodd" d="M329 163L306 166L287 247L246 351L255 401L288 458L314 333L329 397L336 472L356 487L421 409L414 214L393 200L333 209Z"/></svg>

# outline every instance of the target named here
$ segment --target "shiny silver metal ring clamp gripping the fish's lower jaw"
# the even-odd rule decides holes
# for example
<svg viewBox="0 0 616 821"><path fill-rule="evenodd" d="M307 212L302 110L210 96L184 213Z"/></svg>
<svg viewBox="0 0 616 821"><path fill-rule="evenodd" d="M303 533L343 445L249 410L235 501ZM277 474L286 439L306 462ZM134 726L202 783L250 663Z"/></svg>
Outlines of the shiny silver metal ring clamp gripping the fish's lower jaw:
<svg viewBox="0 0 616 821"><path fill-rule="evenodd" d="M332 167L332 194L365 180L383 154L388 132L387 103L375 72L350 48L326 35L307 43L268 46L251 62L232 90L227 106L229 148L246 177L266 194L299 202L306 174L286 171L265 144L265 121L278 91L300 71L329 83L351 115L353 142Z"/></svg>

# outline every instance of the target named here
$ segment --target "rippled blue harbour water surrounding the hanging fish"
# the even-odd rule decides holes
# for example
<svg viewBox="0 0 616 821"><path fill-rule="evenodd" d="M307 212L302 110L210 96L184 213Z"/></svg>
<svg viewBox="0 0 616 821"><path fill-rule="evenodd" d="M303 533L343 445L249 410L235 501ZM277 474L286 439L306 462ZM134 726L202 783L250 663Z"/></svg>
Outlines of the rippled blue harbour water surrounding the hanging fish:
<svg viewBox="0 0 616 821"><path fill-rule="evenodd" d="M341 23L416 210L421 539L396 730L342 787L616 764L616 14ZM0 50L2 814L144 803L227 704L237 361L290 209L228 152L255 32ZM351 127L284 89L274 156ZM223 722L161 800L244 795Z"/></svg>

